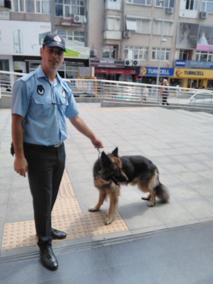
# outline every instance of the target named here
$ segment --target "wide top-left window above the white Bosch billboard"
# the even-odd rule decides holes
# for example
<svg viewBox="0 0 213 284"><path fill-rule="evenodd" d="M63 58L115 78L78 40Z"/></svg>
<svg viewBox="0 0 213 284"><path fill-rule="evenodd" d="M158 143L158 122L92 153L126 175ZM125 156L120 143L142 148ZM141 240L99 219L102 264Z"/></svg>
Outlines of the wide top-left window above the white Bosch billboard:
<svg viewBox="0 0 213 284"><path fill-rule="evenodd" d="M14 0L13 11L50 14L50 0Z"/></svg>

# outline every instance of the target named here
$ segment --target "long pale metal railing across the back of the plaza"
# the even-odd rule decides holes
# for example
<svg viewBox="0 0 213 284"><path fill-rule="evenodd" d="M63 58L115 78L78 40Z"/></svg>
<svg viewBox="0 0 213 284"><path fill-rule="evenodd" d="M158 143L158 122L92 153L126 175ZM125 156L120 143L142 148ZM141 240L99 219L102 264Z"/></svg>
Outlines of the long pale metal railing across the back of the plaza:
<svg viewBox="0 0 213 284"><path fill-rule="evenodd" d="M0 71L1 95L10 97L12 92L9 91L8 86L12 88L14 82L23 75L25 74ZM94 79L64 79L64 81L69 83L76 100L98 98L97 101L101 101L101 106L165 105L171 108L213 110L213 92L204 89L169 87L168 96L165 96L162 86L159 85Z"/></svg>

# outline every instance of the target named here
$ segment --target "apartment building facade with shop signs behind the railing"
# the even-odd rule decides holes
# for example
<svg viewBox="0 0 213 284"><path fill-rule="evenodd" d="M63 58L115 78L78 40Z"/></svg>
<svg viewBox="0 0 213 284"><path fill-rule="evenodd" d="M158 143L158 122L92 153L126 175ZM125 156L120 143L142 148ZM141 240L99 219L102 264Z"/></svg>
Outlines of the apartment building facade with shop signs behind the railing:
<svg viewBox="0 0 213 284"><path fill-rule="evenodd" d="M77 78L213 87L212 0L12 0L0 12L0 69L29 72L45 35L57 31L67 52L59 70ZM6 28L7 27L7 28Z"/></svg>

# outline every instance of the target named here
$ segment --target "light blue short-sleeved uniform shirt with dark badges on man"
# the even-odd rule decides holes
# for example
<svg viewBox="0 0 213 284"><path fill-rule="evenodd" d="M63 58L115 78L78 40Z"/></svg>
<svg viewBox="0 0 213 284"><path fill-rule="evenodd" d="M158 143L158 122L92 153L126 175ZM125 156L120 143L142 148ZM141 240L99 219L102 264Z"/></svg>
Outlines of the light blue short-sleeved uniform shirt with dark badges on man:
<svg viewBox="0 0 213 284"><path fill-rule="evenodd" d="M11 110L24 117L24 142L46 146L63 142L65 116L79 114L67 83L57 73L52 84L41 66L14 83Z"/></svg>

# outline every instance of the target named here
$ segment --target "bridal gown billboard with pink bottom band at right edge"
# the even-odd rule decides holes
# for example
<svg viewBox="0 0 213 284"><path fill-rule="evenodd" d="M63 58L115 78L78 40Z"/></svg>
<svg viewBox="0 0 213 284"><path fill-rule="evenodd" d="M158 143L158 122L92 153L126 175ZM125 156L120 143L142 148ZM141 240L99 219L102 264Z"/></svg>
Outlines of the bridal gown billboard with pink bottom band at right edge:
<svg viewBox="0 0 213 284"><path fill-rule="evenodd" d="M212 51L213 50L213 27L199 26L199 34L197 41L197 50Z"/></svg>

